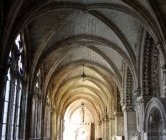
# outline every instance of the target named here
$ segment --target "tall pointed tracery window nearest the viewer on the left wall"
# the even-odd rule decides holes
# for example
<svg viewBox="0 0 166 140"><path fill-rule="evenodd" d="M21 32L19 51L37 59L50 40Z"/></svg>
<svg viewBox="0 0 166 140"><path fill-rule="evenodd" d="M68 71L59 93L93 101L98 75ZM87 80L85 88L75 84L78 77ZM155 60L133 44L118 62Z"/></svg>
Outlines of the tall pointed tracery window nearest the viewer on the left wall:
<svg viewBox="0 0 166 140"><path fill-rule="evenodd" d="M21 100L24 81L24 43L19 34L8 56L8 69L3 96L1 140L19 139Z"/></svg>

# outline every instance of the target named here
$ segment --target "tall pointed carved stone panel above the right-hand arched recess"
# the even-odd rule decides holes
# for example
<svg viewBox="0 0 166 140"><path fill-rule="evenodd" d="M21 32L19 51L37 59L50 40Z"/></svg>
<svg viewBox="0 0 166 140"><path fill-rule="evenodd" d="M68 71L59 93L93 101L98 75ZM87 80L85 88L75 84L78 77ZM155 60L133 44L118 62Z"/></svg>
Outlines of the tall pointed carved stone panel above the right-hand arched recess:
<svg viewBox="0 0 166 140"><path fill-rule="evenodd" d="M150 34L146 33L143 62L143 96L160 95L159 50Z"/></svg>

